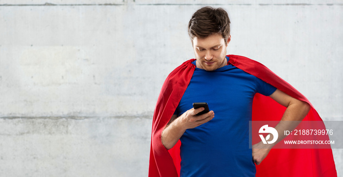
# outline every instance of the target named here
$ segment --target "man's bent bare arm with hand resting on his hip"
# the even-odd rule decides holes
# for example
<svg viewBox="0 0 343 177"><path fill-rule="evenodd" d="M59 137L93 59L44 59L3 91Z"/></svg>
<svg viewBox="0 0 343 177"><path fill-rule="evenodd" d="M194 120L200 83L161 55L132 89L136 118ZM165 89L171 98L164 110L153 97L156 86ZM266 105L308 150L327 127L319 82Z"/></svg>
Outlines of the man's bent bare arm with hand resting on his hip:
<svg viewBox="0 0 343 177"><path fill-rule="evenodd" d="M284 131L292 131L298 125L296 123L294 124L294 122L287 121L301 121L311 109L308 103L297 100L279 89L276 89L274 93L270 95L270 98L287 109L284 112L281 121L275 126L275 129L279 134L277 141L273 144L263 144L261 141L253 145L252 157L256 165L259 165L268 155L273 145L285 138L285 135L283 135Z"/></svg>

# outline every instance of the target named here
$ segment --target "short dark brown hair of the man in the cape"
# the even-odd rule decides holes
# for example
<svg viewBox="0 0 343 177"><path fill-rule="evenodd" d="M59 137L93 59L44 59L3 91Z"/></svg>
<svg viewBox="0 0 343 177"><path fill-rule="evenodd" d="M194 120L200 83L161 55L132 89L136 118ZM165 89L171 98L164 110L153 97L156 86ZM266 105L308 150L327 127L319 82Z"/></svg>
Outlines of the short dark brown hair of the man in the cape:
<svg viewBox="0 0 343 177"><path fill-rule="evenodd" d="M206 38L212 34L221 34L225 44L230 35L230 19L227 12L222 8L210 6L197 10L188 23L188 34L192 43L195 37Z"/></svg>

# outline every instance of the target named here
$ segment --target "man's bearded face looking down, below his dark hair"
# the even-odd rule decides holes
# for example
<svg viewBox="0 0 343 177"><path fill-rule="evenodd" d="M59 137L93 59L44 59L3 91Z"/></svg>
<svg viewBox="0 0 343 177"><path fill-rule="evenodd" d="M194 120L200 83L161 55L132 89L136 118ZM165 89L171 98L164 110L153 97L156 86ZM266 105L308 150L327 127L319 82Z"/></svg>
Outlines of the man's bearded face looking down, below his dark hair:
<svg viewBox="0 0 343 177"><path fill-rule="evenodd" d="M229 44L231 36L227 39ZM207 71L226 66L227 60L225 39L220 34L212 34L206 38L193 39L193 49L196 55L196 67Z"/></svg>

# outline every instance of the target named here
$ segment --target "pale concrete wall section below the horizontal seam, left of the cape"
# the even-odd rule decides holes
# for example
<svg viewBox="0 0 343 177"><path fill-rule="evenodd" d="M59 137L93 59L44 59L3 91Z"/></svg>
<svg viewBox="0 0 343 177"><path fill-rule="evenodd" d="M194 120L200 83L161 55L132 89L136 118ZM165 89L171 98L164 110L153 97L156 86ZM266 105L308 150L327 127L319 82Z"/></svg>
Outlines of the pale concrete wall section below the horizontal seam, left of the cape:
<svg viewBox="0 0 343 177"><path fill-rule="evenodd" d="M1 177L147 176L147 117L25 117L0 124Z"/></svg>

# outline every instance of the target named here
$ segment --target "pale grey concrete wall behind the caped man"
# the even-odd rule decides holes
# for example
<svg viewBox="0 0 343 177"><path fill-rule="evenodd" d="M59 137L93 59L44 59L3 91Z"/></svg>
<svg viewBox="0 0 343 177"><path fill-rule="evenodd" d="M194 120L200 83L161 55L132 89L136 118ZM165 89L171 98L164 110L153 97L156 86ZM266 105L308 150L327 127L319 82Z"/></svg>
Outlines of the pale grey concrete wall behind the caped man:
<svg viewBox="0 0 343 177"><path fill-rule="evenodd" d="M166 76L194 58L196 9L229 12L228 54L343 120L341 0L0 0L0 174L145 177ZM343 176L343 151L333 150Z"/></svg>

